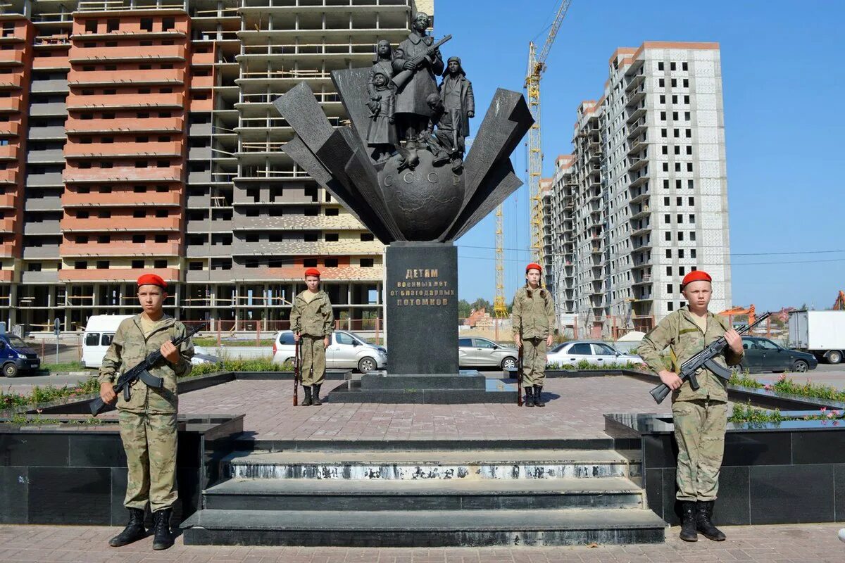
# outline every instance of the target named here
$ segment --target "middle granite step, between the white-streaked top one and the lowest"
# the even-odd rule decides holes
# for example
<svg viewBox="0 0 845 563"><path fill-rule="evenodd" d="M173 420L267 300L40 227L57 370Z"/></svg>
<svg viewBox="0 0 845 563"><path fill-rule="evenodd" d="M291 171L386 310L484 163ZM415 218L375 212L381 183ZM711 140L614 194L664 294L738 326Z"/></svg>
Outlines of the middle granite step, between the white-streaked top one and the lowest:
<svg viewBox="0 0 845 563"><path fill-rule="evenodd" d="M645 506L629 479L230 479L204 490L212 510L422 511Z"/></svg>

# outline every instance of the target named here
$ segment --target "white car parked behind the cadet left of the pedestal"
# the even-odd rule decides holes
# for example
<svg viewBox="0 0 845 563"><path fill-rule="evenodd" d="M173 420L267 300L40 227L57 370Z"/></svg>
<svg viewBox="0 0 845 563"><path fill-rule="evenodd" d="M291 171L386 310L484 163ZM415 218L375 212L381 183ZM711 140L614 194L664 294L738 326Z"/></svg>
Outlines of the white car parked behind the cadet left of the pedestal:
<svg viewBox="0 0 845 563"><path fill-rule="evenodd" d="M279 364L293 361L294 354L292 331L283 330L276 333L273 361ZM369 344L356 333L335 330L331 333L329 347L325 349L325 366L353 369L362 373L381 370L387 367L387 350L384 346Z"/></svg>

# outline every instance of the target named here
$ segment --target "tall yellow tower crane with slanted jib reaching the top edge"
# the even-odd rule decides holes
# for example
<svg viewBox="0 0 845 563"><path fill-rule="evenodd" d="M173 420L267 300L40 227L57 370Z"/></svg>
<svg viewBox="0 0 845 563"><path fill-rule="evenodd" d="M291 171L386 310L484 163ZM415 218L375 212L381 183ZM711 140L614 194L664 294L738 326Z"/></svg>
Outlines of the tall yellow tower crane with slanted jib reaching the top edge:
<svg viewBox="0 0 845 563"><path fill-rule="evenodd" d="M558 36L560 24L564 22L566 12L570 9L572 0L562 0L558 13L554 15L551 29L548 30L546 42L540 53L534 41L528 43L528 71L525 88L528 93L528 109L534 117L534 125L528 131L528 193L531 197L531 246L534 261L543 264L542 250L542 191L540 177L542 176L542 138L540 136L540 78L546 70L546 59L552 50L555 37Z"/></svg>

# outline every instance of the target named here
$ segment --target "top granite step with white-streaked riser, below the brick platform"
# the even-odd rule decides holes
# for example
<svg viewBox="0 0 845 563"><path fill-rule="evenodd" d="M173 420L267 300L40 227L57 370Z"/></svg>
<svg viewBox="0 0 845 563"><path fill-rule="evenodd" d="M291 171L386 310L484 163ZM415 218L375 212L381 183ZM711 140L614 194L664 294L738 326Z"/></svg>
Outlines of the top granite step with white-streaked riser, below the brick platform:
<svg viewBox="0 0 845 563"><path fill-rule="evenodd" d="M497 450L419 452L234 452L221 460L232 479L569 479L640 478L640 452Z"/></svg>

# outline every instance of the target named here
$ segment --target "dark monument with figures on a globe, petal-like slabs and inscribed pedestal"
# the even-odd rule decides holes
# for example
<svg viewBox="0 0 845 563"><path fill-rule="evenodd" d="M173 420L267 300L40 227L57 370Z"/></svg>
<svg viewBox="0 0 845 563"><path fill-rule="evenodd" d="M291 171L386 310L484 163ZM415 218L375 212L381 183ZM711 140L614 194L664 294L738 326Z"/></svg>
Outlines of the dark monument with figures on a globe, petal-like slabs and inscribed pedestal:
<svg viewBox="0 0 845 563"><path fill-rule="evenodd" d="M349 126L332 127L304 82L274 105L296 132L286 154L388 245L389 376L363 376L362 390L380 391L367 400L486 402L484 377L458 370L453 242L521 186L510 153L534 121L521 93L496 90L465 156L472 84L459 57L444 64L451 35L435 41L428 23L416 14L395 49L379 41L371 67L331 73Z"/></svg>

